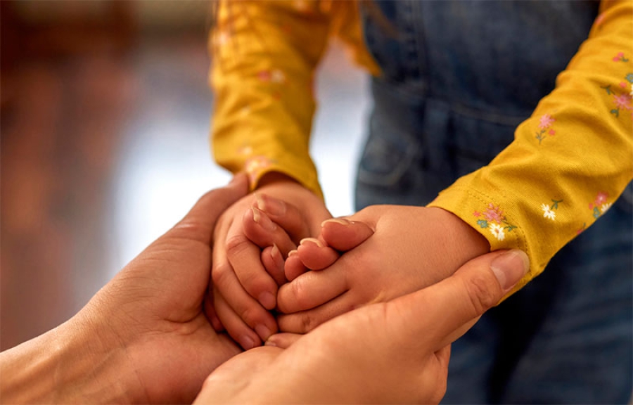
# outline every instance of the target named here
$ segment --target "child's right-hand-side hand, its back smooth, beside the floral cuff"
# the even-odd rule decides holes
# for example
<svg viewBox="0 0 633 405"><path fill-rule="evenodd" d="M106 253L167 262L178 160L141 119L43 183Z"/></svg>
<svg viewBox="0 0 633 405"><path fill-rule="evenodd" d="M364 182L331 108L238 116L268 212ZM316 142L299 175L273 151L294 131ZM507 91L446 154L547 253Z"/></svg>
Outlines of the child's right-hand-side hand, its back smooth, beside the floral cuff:
<svg viewBox="0 0 633 405"><path fill-rule="evenodd" d="M440 208L376 205L348 219L375 233L328 269L301 274L279 288L277 307L286 314L277 318L280 330L307 333L350 309L420 290L490 250L475 229ZM326 225L319 239L331 245L336 227L332 221Z"/></svg>

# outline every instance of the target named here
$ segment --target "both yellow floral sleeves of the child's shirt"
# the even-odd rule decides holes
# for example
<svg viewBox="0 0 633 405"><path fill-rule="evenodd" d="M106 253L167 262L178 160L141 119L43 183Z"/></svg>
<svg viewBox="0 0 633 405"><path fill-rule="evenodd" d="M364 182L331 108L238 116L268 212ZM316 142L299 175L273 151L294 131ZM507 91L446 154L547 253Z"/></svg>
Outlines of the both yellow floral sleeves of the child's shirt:
<svg viewBox="0 0 633 405"><path fill-rule="evenodd" d="M355 1L221 1L210 39L217 162L245 169L253 188L277 171L321 195L309 157L314 68L338 35L378 74L360 30ZM633 178L632 96L633 1L603 1L589 39L513 143L430 205L473 226L493 250L527 252L520 288Z"/></svg>

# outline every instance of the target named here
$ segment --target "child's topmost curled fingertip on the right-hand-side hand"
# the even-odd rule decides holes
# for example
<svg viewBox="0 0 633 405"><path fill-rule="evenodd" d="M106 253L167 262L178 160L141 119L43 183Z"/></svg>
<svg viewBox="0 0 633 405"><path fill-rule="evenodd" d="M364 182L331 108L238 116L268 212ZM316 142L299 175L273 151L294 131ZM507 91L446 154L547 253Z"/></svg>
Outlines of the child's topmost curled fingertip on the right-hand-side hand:
<svg viewBox="0 0 633 405"><path fill-rule="evenodd" d="M321 238L340 252L356 248L372 236L373 232L364 222L345 218L326 219L321 224Z"/></svg>

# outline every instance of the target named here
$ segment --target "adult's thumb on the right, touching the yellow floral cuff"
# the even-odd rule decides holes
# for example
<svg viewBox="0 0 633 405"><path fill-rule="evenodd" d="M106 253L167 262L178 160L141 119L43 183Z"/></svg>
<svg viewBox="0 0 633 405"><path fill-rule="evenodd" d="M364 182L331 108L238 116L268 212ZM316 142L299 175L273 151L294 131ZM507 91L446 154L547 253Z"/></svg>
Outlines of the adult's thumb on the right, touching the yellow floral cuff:
<svg viewBox="0 0 633 405"><path fill-rule="evenodd" d="M455 331L501 300L528 271L520 250L475 257L440 283L388 302L385 314L399 338L426 342L437 351ZM423 320L423 321L421 321Z"/></svg>

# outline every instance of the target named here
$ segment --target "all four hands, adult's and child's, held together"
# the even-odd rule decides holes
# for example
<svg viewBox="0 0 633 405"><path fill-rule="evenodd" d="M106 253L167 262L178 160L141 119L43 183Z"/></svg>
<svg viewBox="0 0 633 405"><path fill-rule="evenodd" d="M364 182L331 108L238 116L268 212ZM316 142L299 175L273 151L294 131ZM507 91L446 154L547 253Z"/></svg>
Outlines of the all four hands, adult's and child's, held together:
<svg viewBox="0 0 633 405"><path fill-rule="evenodd" d="M241 202L252 201L252 195L246 195L245 176L236 176L229 186L203 196L179 224L122 269L78 314L44 335L2 352L2 400L145 404L184 403L196 397L198 403L439 401L445 392L449 343L525 274L525 255L514 251L482 255L433 287L408 294L419 288L404 287L411 270L405 265L433 266L444 259L440 253L416 262L415 257L409 257L410 246L397 247L392 238L418 237L410 233L414 224L396 226L399 219L407 219L408 212L372 221L377 213L364 210L354 217L353 224L328 221L316 232L310 224L320 227L322 217L327 216L324 207L321 211L295 210L302 198L314 196L300 188L292 191L295 195L284 190L283 196L293 198L298 205L277 205L286 212L275 212L274 204L281 201L272 197L275 187L281 191L295 185L262 188L256 200L259 208L250 210L250 219L245 210L238 217L245 224L243 233L259 243L264 238L273 243L262 249L239 236L218 238L223 232L229 235L236 222L218 221L218 217L224 212L223 219L229 218ZM303 219L293 218L295 214ZM274 226L265 222L267 219ZM284 263L282 255L293 250L293 240L310 232L331 245L319 246L308 240ZM428 238L437 235L429 234ZM411 242L419 244L419 250L424 240ZM218 243L226 243L229 249L222 250ZM352 249L352 245L358 248ZM352 250L339 257L340 251L348 249ZM223 308L233 311L229 300L241 300L243 295L240 290L236 295L224 295L224 290L220 294L216 281L231 278L222 276L222 270L218 276L217 269L239 269L236 262L222 260L253 253L259 257L257 270L264 270L258 277L269 276L274 288L261 288L253 295L257 278L237 279L230 271L241 293L250 288L247 303L258 307L245 306L234 318L226 318ZM366 257L368 253L374 257ZM376 257L387 262L374 263ZM305 272L326 264L342 269L332 266L326 271ZM425 275L425 269L417 274L423 283L445 278ZM345 283L337 281L335 271L340 272L338 276L350 271L343 276ZM286 274L293 282L279 288ZM372 287L357 288L365 283ZM402 284L400 289L394 287L397 283ZM274 302L264 294L267 292ZM225 307L223 299L228 299ZM323 300L326 304L315 305ZM376 304L366 305L369 302ZM335 315L362 308L300 336L269 335L276 332L276 323L266 323L268 316L274 321L268 311L273 307L288 313L279 316L279 326L293 332L312 330ZM291 313L295 309L299 311ZM238 326L237 333L231 333L234 339L217 332L234 326ZM246 332L239 327L245 327ZM247 335L255 346L261 342L255 338L267 339L269 345L243 352L235 341L248 347L250 342L243 338L246 333L255 334Z"/></svg>

